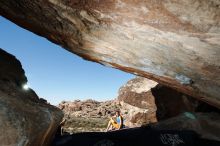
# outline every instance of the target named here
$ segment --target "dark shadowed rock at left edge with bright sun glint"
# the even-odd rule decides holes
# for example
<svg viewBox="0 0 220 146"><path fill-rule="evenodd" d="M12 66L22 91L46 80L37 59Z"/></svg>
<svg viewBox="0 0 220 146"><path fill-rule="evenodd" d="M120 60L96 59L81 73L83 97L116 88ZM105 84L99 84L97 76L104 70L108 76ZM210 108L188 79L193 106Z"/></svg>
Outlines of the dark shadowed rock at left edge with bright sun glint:
<svg viewBox="0 0 220 146"><path fill-rule="evenodd" d="M47 146L62 112L42 102L27 83L21 63L0 49L0 145Z"/></svg>

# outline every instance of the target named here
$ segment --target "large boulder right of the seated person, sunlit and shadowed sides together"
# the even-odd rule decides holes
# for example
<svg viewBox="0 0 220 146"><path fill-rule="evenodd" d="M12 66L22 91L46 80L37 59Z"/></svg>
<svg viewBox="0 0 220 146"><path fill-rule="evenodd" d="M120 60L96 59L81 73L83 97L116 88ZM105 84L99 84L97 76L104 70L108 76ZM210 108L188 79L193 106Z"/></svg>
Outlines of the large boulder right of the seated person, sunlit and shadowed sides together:
<svg viewBox="0 0 220 146"><path fill-rule="evenodd" d="M143 77L123 85L118 91L118 100L128 127L155 123L184 112L219 112L205 102Z"/></svg>

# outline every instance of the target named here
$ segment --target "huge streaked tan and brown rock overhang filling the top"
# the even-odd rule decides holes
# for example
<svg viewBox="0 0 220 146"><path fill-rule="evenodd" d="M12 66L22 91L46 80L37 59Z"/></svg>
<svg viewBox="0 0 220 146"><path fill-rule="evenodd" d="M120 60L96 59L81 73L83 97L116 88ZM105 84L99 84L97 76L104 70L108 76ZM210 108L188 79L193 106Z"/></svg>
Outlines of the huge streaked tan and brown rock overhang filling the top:
<svg viewBox="0 0 220 146"><path fill-rule="evenodd" d="M2 0L0 14L87 60L220 107L219 0Z"/></svg>

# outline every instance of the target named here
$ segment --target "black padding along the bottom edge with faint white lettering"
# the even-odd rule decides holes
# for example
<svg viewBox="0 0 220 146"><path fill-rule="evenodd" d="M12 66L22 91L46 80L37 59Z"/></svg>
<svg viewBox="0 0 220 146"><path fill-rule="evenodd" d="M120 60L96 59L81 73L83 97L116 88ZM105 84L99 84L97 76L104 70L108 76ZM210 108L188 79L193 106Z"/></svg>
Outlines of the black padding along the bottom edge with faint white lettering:
<svg viewBox="0 0 220 146"><path fill-rule="evenodd" d="M58 136L53 146L219 146L190 130L157 130L151 126L113 132L87 132Z"/></svg>

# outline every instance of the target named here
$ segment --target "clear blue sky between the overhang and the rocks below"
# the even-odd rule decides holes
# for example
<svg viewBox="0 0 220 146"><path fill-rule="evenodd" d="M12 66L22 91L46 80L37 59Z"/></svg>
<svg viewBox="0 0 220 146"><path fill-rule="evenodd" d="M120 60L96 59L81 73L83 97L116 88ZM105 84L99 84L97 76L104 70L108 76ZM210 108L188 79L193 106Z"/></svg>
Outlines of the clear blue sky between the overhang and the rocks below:
<svg viewBox="0 0 220 146"><path fill-rule="evenodd" d="M0 48L22 63L29 86L57 105L62 100L109 100L134 75L85 61L0 16Z"/></svg>

